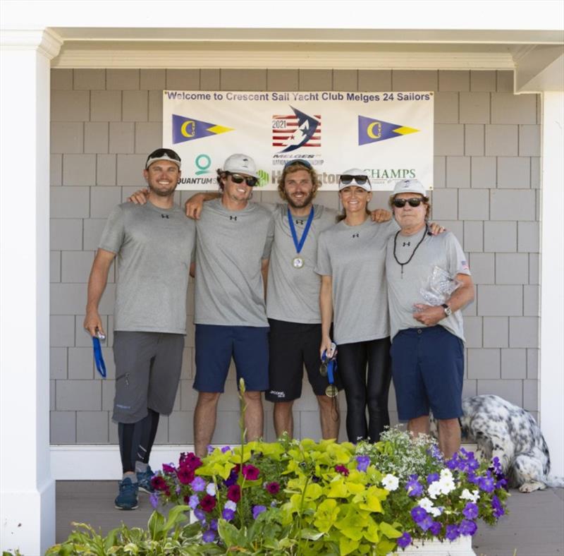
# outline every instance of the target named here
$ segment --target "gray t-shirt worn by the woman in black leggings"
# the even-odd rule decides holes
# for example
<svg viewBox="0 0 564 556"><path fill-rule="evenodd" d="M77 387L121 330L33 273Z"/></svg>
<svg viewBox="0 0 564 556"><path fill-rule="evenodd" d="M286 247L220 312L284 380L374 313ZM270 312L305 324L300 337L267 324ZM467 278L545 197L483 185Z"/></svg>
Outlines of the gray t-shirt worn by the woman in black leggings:
<svg viewBox="0 0 564 556"><path fill-rule="evenodd" d="M333 280L333 340L367 342L390 335L386 290L386 244L395 220L348 226L342 220L319 236L315 272Z"/></svg>

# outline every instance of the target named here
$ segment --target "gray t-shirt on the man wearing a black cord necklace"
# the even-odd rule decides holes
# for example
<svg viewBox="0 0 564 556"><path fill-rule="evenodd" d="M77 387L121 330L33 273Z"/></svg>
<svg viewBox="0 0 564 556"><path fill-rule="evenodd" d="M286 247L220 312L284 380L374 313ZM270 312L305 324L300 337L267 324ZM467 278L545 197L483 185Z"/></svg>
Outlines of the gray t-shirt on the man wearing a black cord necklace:
<svg viewBox="0 0 564 556"><path fill-rule="evenodd" d="M407 261L413 253L415 246L425 234L425 230L414 236L402 236L398 234L396 241L396 257L400 262ZM467 274L470 276L467 259L462 252L462 247L457 238L450 231L438 236L425 235L424 239L415 251L412 260L403 266L403 277L401 266L393 257L394 238L388 241L386 250L386 277L388 279L388 301L390 307L392 339L400 331L406 328L422 328L421 322L413 318L413 306L417 303L428 305L421 294L421 289L428 289L429 276L434 267L446 270L450 277L456 274ZM462 329L462 312L455 311L450 317L439 321L443 326L464 342L464 331Z"/></svg>

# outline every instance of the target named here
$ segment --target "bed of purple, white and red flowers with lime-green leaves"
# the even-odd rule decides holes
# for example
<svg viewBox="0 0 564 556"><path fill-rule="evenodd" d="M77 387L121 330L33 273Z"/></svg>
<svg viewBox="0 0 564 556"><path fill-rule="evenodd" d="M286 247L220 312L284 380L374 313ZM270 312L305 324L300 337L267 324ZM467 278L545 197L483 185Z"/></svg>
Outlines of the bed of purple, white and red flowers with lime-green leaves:
<svg viewBox="0 0 564 556"><path fill-rule="evenodd" d="M398 429L375 445L282 438L216 448L203 461L181 454L153 481L153 503L188 504L204 543L304 555L471 537L477 519L503 515L508 495L498 461L488 469L464 449L443 461L434 440Z"/></svg>

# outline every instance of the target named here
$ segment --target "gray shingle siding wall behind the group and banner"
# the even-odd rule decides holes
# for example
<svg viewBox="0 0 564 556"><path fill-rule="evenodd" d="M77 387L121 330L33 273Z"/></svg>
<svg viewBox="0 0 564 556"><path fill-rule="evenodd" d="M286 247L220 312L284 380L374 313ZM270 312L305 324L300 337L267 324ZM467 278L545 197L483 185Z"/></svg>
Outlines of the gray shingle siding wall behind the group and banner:
<svg viewBox="0 0 564 556"><path fill-rule="evenodd" d="M539 97L513 95L512 87L507 71L51 71L51 443L116 442L113 267L100 304L109 332L105 381L94 370L90 339L82 330L86 284L105 218L145 185L145 157L161 145L164 88L436 91L432 217L458 236L477 290L465 311L464 394L499 394L536 415ZM177 193L178 202L191 194ZM277 194L256 197L276 200ZM336 193L321 192L318 198L337 206ZM372 205L385 206L386 200L386 193L378 193ZM187 305L190 321L192 283ZM161 419L160 443L193 441L193 335L190 324L175 410ZM341 407L344 422L344 398ZM393 389L390 407L396 421ZM265 409L266 438L273 440L271 404L266 402ZM237 412L231 372L214 442L238 440ZM320 435L317 403L307 382L295 403L295 435Z"/></svg>

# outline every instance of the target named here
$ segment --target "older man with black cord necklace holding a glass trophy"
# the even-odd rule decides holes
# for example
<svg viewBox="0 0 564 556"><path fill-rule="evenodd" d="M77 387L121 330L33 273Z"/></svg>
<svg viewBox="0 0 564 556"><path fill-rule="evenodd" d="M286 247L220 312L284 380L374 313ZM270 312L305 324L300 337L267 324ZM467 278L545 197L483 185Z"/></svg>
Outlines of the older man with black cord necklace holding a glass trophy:
<svg viewBox="0 0 564 556"><path fill-rule="evenodd" d="M439 447L450 458L460 447L464 333L462 308L474 284L460 243L451 232L429 233L429 197L416 179L396 183L390 197L400 230L386 249L391 356L398 416L418 435L429 433L429 409L439 422ZM439 267L460 286L430 306L422 292Z"/></svg>

